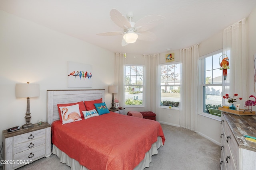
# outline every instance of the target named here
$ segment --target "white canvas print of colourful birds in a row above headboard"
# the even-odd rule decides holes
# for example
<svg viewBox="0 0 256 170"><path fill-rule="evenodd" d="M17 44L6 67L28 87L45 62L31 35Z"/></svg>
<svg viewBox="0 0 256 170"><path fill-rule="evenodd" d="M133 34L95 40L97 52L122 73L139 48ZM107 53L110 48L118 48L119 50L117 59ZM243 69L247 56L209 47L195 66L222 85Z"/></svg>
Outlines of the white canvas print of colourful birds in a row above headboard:
<svg viewBox="0 0 256 170"><path fill-rule="evenodd" d="M68 61L68 88L91 88L92 65Z"/></svg>

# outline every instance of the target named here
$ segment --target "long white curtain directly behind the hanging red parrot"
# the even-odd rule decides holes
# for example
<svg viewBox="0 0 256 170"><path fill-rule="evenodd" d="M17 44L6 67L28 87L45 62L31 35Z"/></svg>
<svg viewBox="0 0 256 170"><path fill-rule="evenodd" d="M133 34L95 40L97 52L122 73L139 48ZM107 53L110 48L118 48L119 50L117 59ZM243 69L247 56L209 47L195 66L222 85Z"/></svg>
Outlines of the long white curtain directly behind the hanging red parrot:
<svg viewBox="0 0 256 170"><path fill-rule="evenodd" d="M223 54L228 56L230 66L230 69L228 69L230 74L227 74L227 79L224 82L223 94L228 93L230 96L235 93L238 94L238 97L243 98L243 100L237 100L237 103L241 104L240 107L244 107L249 93L247 85L246 29L246 18L244 18L223 31Z"/></svg>

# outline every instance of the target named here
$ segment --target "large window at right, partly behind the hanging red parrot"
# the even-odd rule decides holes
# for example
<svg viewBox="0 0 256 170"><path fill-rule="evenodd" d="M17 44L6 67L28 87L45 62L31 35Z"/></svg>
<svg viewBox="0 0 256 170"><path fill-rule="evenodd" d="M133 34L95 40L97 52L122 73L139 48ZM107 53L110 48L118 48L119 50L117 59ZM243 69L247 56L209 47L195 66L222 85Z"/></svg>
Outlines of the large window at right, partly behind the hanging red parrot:
<svg viewBox="0 0 256 170"><path fill-rule="evenodd" d="M217 51L202 57L202 94L203 112L221 116L218 107L222 105L222 70L220 70L220 56Z"/></svg>

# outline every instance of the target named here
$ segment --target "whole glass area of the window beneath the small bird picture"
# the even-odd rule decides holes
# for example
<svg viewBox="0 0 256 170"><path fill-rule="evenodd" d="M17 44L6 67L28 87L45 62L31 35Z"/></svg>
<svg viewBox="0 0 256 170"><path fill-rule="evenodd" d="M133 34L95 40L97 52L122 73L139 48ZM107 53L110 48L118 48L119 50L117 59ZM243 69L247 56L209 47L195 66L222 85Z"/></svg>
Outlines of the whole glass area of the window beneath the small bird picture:
<svg viewBox="0 0 256 170"><path fill-rule="evenodd" d="M161 106L180 107L180 64L160 66Z"/></svg>

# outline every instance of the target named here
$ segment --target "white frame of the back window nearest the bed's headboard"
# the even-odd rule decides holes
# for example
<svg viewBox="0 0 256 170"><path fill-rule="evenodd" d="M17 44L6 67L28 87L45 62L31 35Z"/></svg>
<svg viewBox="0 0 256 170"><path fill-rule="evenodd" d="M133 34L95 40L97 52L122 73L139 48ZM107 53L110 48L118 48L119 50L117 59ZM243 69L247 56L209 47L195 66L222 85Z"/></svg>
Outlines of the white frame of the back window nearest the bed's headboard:
<svg viewBox="0 0 256 170"><path fill-rule="evenodd" d="M142 85L139 85L139 84L136 84L136 85L129 85L129 84L125 84L125 78L126 78L126 66L142 66L142 70L143 70L143 80L142 80ZM136 74L137 76L137 74ZM124 106L125 107L144 107L145 106L145 93L144 93L144 90L145 90L145 65L144 64L124 64L124 85L123 85L123 88L124 88ZM142 91L142 105L126 105L126 95L125 95L125 87L126 86L141 86L143 88L143 91Z"/></svg>

